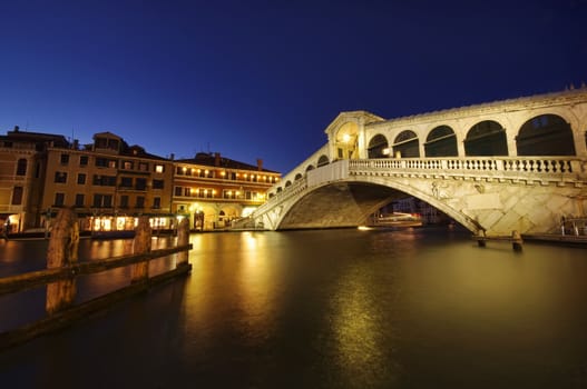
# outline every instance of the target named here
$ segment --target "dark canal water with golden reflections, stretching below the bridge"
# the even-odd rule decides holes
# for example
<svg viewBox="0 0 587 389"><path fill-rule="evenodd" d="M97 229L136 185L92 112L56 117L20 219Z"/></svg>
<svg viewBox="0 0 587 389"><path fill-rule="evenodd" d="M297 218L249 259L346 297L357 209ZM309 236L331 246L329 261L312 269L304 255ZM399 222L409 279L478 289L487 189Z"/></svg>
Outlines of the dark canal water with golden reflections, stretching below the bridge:
<svg viewBox="0 0 587 389"><path fill-rule="evenodd" d="M1 351L1 387L587 387L583 248L479 248L444 228L190 241L190 276ZM42 241L0 245L0 271L42 263ZM80 257L129 249L88 240Z"/></svg>

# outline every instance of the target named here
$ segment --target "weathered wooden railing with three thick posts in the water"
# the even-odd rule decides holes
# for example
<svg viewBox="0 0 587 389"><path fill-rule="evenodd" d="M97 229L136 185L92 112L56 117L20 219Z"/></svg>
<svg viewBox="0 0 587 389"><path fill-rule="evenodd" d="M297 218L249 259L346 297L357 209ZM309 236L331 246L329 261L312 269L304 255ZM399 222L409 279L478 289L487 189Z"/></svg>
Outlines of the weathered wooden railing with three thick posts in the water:
<svg viewBox="0 0 587 389"><path fill-rule="evenodd" d="M151 250L151 229L148 218L140 217L133 242L133 253L100 260L78 261L79 230L75 213L67 208L59 211L47 250L47 269L0 278L0 296L47 286L46 316L37 321L0 332L0 350L26 342L38 336L70 326L89 313L137 295L150 287L189 273L189 225L182 220L177 230L177 246ZM174 269L149 277L149 261L177 253ZM76 278L130 266L130 285L89 301L74 303Z"/></svg>

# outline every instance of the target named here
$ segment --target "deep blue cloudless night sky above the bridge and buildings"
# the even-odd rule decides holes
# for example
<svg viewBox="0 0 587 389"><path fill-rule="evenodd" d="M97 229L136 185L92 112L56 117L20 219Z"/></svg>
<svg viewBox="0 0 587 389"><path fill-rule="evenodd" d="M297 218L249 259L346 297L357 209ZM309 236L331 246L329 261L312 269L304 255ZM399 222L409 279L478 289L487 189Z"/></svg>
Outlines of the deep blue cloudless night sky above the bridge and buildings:
<svg viewBox="0 0 587 389"><path fill-rule="evenodd" d="M587 82L587 0L0 0L0 132L283 173L341 112L397 118Z"/></svg>

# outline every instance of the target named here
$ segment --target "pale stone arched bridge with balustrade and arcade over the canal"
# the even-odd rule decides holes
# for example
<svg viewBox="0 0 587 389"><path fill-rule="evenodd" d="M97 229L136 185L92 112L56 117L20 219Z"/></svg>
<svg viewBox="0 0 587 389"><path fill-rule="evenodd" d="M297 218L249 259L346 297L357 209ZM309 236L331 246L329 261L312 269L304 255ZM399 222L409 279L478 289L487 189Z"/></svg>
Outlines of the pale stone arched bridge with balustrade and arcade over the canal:
<svg viewBox="0 0 587 389"><path fill-rule="evenodd" d="M585 216L587 88L385 120L342 112L327 142L248 220L353 227L415 197L475 233L544 233Z"/></svg>

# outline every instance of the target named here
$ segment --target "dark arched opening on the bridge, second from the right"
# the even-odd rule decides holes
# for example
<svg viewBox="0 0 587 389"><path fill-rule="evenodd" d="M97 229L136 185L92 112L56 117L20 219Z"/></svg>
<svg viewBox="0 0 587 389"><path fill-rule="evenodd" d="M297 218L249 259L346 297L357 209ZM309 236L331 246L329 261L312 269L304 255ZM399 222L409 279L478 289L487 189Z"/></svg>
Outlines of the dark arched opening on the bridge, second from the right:
<svg viewBox="0 0 587 389"><path fill-rule="evenodd" d="M507 156L506 129L493 120L478 122L467 132L464 154L473 157Z"/></svg>

